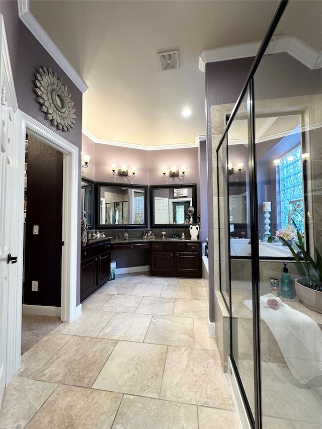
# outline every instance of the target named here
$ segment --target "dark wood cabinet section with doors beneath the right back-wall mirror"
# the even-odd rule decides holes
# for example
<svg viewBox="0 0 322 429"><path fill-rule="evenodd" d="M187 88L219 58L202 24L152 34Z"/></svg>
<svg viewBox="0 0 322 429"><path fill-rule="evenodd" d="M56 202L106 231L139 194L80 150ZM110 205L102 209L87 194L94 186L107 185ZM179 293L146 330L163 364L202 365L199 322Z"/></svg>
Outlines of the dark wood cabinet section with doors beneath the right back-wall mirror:
<svg viewBox="0 0 322 429"><path fill-rule="evenodd" d="M151 243L151 276L201 278L201 242Z"/></svg>

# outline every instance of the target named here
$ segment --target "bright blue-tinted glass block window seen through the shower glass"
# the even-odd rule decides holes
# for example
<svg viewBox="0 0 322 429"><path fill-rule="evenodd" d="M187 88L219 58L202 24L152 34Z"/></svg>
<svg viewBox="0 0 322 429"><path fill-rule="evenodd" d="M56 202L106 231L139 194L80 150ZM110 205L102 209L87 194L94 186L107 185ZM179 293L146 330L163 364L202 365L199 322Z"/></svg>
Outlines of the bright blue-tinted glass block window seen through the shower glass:
<svg viewBox="0 0 322 429"><path fill-rule="evenodd" d="M298 145L281 157L280 200L282 228L292 224L292 218L301 232L304 230L302 178L302 152L301 145Z"/></svg>

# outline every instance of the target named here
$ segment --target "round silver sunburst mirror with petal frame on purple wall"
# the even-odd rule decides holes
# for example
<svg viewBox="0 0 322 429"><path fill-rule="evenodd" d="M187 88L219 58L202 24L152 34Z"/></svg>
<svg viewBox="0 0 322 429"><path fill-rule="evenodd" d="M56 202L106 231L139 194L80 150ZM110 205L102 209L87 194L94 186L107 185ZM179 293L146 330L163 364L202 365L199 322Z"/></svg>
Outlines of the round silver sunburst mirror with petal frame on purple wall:
<svg viewBox="0 0 322 429"><path fill-rule="evenodd" d="M71 101L67 87L50 67L38 67L37 70L34 91L38 96L37 102L41 104L41 111L46 113L46 119L58 130L70 131L74 127L76 116L74 102Z"/></svg>

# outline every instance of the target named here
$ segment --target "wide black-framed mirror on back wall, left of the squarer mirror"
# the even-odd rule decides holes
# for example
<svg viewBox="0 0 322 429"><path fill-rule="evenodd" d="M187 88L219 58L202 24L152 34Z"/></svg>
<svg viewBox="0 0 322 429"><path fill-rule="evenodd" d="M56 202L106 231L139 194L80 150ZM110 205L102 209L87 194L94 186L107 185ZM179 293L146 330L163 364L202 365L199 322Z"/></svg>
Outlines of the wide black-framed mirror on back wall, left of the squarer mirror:
<svg viewBox="0 0 322 429"><path fill-rule="evenodd" d="M96 182L97 229L147 228L147 185Z"/></svg>

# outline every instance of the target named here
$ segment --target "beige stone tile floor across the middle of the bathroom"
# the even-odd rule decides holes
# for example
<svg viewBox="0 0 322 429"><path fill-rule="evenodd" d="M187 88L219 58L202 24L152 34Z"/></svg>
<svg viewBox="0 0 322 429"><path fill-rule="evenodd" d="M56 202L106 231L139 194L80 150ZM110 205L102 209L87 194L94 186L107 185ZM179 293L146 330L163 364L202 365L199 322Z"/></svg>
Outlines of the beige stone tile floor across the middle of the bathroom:
<svg viewBox="0 0 322 429"><path fill-rule="evenodd" d="M1 429L238 429L201 279L118 276L22 357Z"/></svg>

